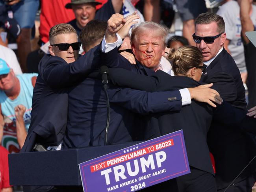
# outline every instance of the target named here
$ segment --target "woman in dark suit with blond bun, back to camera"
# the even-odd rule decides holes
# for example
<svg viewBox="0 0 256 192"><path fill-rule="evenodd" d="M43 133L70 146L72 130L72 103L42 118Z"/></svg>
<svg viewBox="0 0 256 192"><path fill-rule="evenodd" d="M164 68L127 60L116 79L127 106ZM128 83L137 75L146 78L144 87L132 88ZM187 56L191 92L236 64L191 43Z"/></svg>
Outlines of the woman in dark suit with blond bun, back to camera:
<svg viewBox="0 0 256 192"><path fill-rule="evenodd" d="M200 80L204 66L202 66L202 55L197 48L185 46L173 50L170 55L173 60L174 74ZM110 69L110 76L114 84L147 91L181 89L200 85L191 78L171 77L161 70L149 77L123 69ZM236 124L245 117L243 110L236 109L226 102L212 110L203 103L192 101L191 105L182 107L179 112L151 115L148 117L147 129L142 130L144 131L143 139L158 137L178 129L184 130L191 174L177 178L179 191L217 190L206 143L206 134L213 114L215 119L225 124Z"/></svg>

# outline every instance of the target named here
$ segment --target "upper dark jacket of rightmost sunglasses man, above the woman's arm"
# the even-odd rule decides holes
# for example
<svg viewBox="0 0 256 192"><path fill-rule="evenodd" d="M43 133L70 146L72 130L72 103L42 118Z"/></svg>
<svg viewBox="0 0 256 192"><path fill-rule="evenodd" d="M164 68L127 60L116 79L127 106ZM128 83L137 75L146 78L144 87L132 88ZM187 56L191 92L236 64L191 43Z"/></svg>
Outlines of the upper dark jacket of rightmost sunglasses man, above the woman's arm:
<svg viewBox="0 0 256 192"><path fill-rule="evenodd" d="M213 83L212 89L234 107L246 110L245 88L234 59L223 51L211 62L202 74L200 82Z"/></svg>

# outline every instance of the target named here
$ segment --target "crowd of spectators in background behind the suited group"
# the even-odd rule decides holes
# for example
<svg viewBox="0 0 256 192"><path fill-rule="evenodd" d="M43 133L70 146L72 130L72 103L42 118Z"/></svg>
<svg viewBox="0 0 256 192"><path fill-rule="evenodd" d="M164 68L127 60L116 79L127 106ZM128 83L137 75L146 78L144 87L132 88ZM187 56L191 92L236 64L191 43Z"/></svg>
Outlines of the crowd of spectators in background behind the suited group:
<svg viewBox="0 0 256 192"><path fill-rule="evenodd" d="M179 60L173 58L172 54L177 54L174 50L196 46L192 36L196 32L195 19L200 13L216 12L225 22L224 48L234 58L241 74L248 115L256 118L253 53L256 48L245 36L245 31L255 30L256 5L252 0L246 0L247 4L243 4L244 1L223 0L216 6L218 9L212 9L205 0L72 0L72 3L71 0L0 0L0 191L13 190L9 185L7 153L18 153L24 145L31 123L38 66L45 55L52 54L48 49L52 46L49 32L60 23L68 23L74 28L78 42L82 43L79 54L84 55L100 44L105 35L102 31L106 31L106 21L111 15L120 13L127 17L137 11L140 16L138 23L153 21L169 29L165 57L162 57L158 69L176 75L178 72L173 73L169 63ZM177 29L177 24L183 27ZM96 39L92 30L98 31ZM136 64L127 39L127 42L124 39L119 53Z"/></svg>

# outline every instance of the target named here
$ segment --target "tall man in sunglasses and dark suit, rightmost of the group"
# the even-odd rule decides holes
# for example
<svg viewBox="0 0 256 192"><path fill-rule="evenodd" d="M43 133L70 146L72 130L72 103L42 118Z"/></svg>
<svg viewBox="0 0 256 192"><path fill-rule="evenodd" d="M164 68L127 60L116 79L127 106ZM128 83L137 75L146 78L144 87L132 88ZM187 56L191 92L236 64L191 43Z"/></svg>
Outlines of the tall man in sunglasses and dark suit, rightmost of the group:
<svg viewBox="0 0 256 192"><path fill-rule="evenodd" d="M220 93L223 100L230 102L233 107L246 110L245 89L239 70L234 59L223 48L226 40L223 18L215 13L202 13L195 24L193 39L207 65L200 81L208 83L209 79L213 80L212 88ZM247 140L235 126L212 122L208 145L215 157L218 191L224 191L250 161ZM254 184L251 175L250 170L246 169L228 191L248 191L247 186L251 189Z"/></svg>

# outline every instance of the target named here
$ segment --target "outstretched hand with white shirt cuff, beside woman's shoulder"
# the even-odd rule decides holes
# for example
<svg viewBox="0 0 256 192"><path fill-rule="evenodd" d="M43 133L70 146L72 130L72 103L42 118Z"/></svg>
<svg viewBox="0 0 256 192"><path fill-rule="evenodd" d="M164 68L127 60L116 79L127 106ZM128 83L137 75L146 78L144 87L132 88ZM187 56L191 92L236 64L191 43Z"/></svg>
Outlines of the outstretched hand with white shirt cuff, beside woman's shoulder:
<svg viewBox="0 0 256 192"><path fill-rule="evenodd" d="M198 102L208 103L212 107L217 107L217 105L215 105L213 102L221 104L223 99L216 90L210 89L212 85L213 83L200 85L195 88L188 88L191 99L194 99Z"/></svg>

